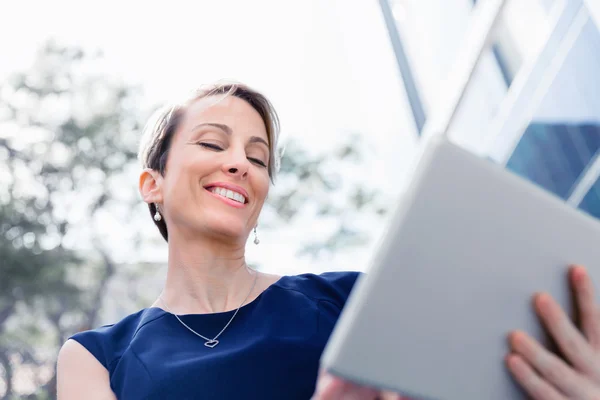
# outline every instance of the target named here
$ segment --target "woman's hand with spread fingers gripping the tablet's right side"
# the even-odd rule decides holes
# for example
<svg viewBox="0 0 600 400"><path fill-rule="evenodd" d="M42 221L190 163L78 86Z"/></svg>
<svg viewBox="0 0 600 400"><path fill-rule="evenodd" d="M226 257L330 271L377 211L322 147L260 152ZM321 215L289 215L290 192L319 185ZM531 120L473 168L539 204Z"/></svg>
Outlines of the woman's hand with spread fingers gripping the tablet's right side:
<svg viewBox="0 0 600 400"><path fill-rule="evenodd" d="M550 296L534 299L536 312L568 363L523 332L509 336L508 369L535 400L600 399L600 308L585 269L574 267L569 275L580 330Z"/></svg>

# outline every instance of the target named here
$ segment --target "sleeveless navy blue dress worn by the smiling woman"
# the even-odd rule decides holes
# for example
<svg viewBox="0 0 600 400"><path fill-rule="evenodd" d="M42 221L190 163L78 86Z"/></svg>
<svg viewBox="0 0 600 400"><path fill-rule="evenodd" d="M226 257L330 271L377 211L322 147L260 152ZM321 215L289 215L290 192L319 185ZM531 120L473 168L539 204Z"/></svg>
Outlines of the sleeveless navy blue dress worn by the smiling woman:
<svg viewBox="0 0 600 400"><path fill-rule="evenodd" d="M214 348L146 308L72 339L110 374L118 399L309 399L319 358L357 272L284 276L243 306ZM180 318L214 337L233 311Z"/></svg>

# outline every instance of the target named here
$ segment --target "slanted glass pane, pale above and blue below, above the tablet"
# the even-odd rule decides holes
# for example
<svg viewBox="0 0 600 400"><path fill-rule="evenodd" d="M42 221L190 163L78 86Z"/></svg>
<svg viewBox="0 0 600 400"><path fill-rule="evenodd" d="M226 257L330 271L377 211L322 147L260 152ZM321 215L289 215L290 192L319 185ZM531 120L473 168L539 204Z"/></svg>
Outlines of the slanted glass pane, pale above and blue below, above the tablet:
<svg viewBox="0 0 600 400"><path fill-rule="evenodd" d="M486 154L563 199L600 148L600 33L581 12L568 31L554 50L560 61L533 70L532 87L506 103Z"/></svg>

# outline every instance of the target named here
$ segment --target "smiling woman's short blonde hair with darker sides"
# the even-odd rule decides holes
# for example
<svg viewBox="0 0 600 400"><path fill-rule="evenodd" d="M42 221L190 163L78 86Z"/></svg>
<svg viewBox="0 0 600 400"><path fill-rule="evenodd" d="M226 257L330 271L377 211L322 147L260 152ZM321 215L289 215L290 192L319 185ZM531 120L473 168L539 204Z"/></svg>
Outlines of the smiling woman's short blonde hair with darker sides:
<svg viewBox="0 0 600 400"><path fill-rule="evenodd" d="M173 139L179 124L187 110L188 106L206 97L234 96L246 101L261 116L265 123L267 139L269 142L269 163L267 170L271 182L275 182L275 175L279 169L279 157L277 154L277 141L279 139L280 125L279 117L271 102L260 92L250 87L236 82L219 82L195 90L191 96L182 102L169 104L157 110L150 118L144 128L138 158L142 163L142 168L150 168L164 175L167 168L167 158ZM156 214L154 204L148 204L150 215ZM168 241L167 225L164 218L160 221L152 219L163 238Z"/></svg>

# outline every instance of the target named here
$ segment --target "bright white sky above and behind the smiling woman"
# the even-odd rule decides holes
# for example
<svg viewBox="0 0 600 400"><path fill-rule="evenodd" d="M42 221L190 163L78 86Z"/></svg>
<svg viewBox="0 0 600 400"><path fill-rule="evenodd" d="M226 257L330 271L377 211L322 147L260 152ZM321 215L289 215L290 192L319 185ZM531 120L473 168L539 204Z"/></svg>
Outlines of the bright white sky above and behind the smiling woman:
<svg viewBox="0 0 600 400"><path fill-rule="evenodd" d="M106 69L142 84L149 104L216 79L248 83L274 102L284 136L322 151L360 132L379 160L357 179L392 197L406 182L416 136L375 0L9 2L0 5L0 76L49 37L102 49ZM263 234L249 256L278 273L364 269L370 250L338 267L295 259L311 229Z"/></svg>

